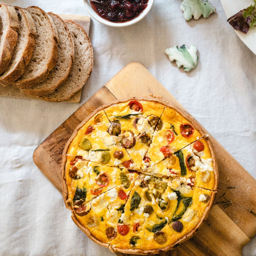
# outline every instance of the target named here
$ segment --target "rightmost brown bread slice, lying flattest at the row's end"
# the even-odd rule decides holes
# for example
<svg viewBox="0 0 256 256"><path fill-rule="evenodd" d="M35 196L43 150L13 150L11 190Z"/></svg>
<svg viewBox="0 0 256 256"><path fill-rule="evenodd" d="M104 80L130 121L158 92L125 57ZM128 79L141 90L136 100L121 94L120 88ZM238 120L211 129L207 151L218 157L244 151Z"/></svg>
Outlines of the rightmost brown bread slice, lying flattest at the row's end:
<svg viewBox="0 0 256 256"><path fill-rule="evenodd" d="M84 29L73 21L66 21L75 45L75 61L67 80L53 93L38 96L47 101L62 101L69 99L85 84L92 72L93 51L90 38Z"/></svg>

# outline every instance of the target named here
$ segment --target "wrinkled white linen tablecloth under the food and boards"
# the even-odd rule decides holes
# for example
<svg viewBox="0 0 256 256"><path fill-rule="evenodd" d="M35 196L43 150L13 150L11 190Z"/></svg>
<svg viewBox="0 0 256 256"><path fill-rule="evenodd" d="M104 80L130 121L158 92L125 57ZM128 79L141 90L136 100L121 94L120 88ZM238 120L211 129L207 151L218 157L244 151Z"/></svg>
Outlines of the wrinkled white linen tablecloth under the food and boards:
<svg viewBox="0 0 256 256"><path fill-rule="evenodd" d="M4 2L87 14L82 0ZM131 61L142 63L256 178L256 56L226 22L220 1L210 2L217 13L198 21L183 19L181 0L156 0L144 20L127 28L92 20L94 67L81 103L0 98L1 256L113 255L76 227L62 195L32 156L39 143ZM174 44L197 45L195 70L185 73L166 58L165 48ZM256 255L256 238L243 255Z"/></svg>

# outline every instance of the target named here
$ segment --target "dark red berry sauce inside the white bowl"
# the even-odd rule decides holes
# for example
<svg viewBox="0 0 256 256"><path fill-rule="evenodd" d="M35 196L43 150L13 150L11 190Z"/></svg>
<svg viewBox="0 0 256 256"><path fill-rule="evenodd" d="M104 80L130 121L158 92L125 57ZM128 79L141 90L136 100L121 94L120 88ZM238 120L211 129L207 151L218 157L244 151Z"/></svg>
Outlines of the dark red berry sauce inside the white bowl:
<svg viewBox="0 0 256 256"><path fill-rule="evenodd" d="M148 0L98 0L91 6L101 18L112 22L125 22L138 17L147 7Z"/></svg>

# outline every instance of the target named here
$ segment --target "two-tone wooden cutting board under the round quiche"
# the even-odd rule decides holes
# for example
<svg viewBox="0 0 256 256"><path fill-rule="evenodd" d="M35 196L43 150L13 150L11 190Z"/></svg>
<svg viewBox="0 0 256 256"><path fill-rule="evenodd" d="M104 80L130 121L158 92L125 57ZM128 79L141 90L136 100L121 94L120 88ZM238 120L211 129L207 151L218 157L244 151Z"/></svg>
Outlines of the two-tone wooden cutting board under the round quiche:
<svg viewBox="0 0 256 256"><path fill-rule="evenodd" d="M116 99L150 95L185 110L145 67L130 63L37 147L34 152L35 164L61 191L61 154L75 127L101 105ZM161 255L238 256L242 255L244 245L256 235L256 215L253 214L256 213L256 181L211 135L210 139L220 174L216 203L209 218L193 238Z"/></svg>

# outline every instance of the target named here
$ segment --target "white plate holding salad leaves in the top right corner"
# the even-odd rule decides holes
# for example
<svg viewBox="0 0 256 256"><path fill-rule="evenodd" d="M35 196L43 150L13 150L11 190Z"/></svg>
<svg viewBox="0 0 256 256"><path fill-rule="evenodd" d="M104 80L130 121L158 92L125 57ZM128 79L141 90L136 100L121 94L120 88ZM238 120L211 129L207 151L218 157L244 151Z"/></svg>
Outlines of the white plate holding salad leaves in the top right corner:
<svg viewBox="0 0 256 256"><path fill-rule="evenodd" d="M227 19L240 10L243 10L254 4L253 0L221 0L223 9L227 15ZM230 26L230 29L233 29ZM243 41L243 43L254 53L256 54L256 27L250 28L247 34L242 33L241 31L235 30L235 33Z"/></svg>

